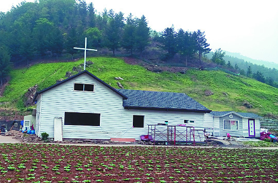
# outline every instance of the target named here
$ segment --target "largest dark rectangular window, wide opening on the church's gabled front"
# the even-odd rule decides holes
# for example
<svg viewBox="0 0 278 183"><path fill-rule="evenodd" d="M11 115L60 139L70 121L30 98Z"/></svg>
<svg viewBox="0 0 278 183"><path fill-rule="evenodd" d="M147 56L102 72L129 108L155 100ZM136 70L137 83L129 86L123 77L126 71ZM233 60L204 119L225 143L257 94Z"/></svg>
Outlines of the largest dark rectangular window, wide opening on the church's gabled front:
<svg viewBox="0 0 278 183"><path fill-rule="evenodd" d="M65 125L100 126L100 114L65 112ZM78 130L78 129L76 129Z"/></svg>

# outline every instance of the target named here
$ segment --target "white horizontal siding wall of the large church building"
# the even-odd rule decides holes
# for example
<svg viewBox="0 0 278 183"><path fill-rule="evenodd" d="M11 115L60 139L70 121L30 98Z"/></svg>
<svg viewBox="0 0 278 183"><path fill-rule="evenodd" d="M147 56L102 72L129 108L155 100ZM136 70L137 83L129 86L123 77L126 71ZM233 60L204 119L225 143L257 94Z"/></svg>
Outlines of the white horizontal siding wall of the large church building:
<svg viewBox="0 0 278 183"><path fill-rule="evenodd" d="M95 92L73 91L74 83L94 84ZM54 137L54 117L62 117L64 123L64 112L100 113L100 127L63 125L63 138L140 139L148 133L148 125L165 120L168 125L178 125L190 119L195 120L191 126L203 126L203 113L124 109L121 96L86 74L44 92L42 97L40 133L47 132L49 138ZM133 115L145 115L144 128L132 128Z"/></svg>

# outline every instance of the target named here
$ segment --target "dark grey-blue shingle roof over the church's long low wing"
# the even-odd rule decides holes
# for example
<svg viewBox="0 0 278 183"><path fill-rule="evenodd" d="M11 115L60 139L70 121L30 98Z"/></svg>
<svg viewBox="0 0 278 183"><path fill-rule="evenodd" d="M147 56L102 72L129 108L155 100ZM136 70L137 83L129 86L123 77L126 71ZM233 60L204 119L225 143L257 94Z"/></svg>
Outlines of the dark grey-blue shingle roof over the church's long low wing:
<svg viewBox="0 0 278 183"><path fill-rule="evenodd" d="M184 93L155 92L142 90L117 89L128 97L123 105L128 109L161 109L177 111L210 112L203 105Z"/></svg>

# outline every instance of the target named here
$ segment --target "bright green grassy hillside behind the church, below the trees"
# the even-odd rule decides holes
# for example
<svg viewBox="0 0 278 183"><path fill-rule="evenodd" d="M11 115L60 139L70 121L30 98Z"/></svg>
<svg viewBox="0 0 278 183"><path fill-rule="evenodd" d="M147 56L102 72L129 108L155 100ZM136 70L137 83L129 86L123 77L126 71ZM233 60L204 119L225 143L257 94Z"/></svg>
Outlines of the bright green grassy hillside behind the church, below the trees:
<svg viewBox="0 0 278 183"><path fill-rule="evenodd" d="M181 73L154 73L138 65L129 65L118 58L88 58L94 62L86 70L99 77L112 87L117 87L114 77L122 77L120 83L125 89L183 92L202 105L214 111L254 112L260 115L278 114L278 89L257 82L251 78L234 76L222 71L188 70ZM3 97L0 97L1 108L23 107L24 94L29 87L38 85L42 90L56 83L57 79L65 78L66 71L82 64L77 62L37 64L25 69L11 72L11 80ZM205 96L205 91L214 94ZM248 109L242 104L248 101L253 108Z"/></svg>

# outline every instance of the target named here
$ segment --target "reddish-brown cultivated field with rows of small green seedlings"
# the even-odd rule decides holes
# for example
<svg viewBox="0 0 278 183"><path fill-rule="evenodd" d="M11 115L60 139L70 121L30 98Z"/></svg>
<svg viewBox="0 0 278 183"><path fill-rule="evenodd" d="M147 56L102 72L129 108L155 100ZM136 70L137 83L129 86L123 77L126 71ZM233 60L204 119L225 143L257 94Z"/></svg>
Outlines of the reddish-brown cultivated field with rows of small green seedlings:
<svg viewBox="0 0 278 183"><path fill-rule="evenodd" d="M278 150L0 144L0 182L278 182Z"/></svg>

